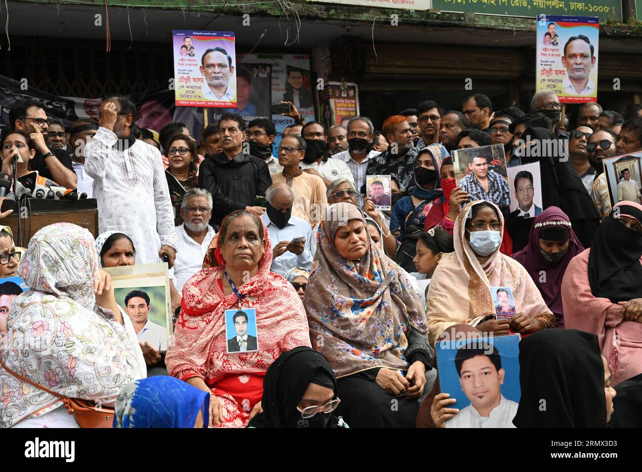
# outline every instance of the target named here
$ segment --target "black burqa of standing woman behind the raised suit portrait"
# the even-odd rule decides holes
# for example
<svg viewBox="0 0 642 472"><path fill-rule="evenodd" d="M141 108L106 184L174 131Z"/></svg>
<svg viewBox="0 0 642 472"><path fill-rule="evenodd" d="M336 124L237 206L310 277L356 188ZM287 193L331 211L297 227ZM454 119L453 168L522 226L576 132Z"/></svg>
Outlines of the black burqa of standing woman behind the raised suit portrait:
<svg viewBox="0 0 642 472"><path fill-rule="evenodd" d="M523 156L522 164L539 162L542 192L542 210L551 206L560 207L568 214L573 231L580 243L586 248L591 247L593 236L600 225L600 214L595 209L591 195L586 191L584 183L577 175L573 164L564 156L563 146L554 144L559 140L546 128L526 128L521 135L526 143L539 141L540 152L537 156ZM543 141L546 140L546 141ZM545 143L545 144L541 144ZM568 149L568 143L566 144ZM535 184L537 185L537 184ZM522 218L514 211L506 218L506 225L513 240L513 251L522 250L528 244L531 225L535 218Z"/></svg>

